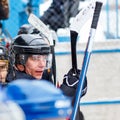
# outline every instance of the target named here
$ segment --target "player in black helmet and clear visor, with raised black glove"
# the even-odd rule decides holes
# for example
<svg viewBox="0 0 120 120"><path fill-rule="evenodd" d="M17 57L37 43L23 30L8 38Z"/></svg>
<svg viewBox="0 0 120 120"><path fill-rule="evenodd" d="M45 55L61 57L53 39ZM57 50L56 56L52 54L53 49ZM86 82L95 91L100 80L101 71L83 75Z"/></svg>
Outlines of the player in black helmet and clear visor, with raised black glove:
<svg viewBox="0 0 120 120"><path fill-rule="evenodd" d="M32 34L20 34L16 36L12 45L12 58L15 67L14 80L29 79L41 80L45 69L49 65L50 45L44 36ZM73 74L73 70L65 75L63 84L60 86L63 93L71 98L75 97L77 83L79 81L80 70L77 74ZM10 75L8 75L10 76ZM10 82L13 79L7 78ZM87 91L87 79L85 78L82 96ZM82 97L81 96L81 97ZM78 110L76 120L80 119L80 111Z"/></svg>

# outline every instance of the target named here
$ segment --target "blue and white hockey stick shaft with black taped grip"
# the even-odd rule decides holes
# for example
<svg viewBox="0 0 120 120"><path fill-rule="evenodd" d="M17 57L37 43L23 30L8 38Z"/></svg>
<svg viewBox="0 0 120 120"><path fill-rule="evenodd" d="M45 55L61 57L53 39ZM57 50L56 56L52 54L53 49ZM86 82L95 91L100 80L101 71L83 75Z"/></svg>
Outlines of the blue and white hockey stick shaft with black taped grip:
<svg viewBox="0 0 120 120"><path fill-rule="evenodd" d="M92 51L92 43L94 40L94 36L95 36L95 32L96 32L100 12L101 12L101 7L102 7L102 2L96 2L93 19L92 19L92 24L91 24L91 29L90 29L90 34L89 34L89 38L88 38L88 42L87 42L87 46L86 46L86 50L85 50L85 55L84 55L84 59L83 59L83 63L82 63L80 79L79 79L79 83L78 83L78 87L77 87L77 91L76 91L76 98L75 98L75 103L74 103L71 120L76 119L76 114L77 114L80 97L81 97L81 93L82 93L82 87L84 84L85 76L86 76L87 69L88 69L88 64L90 61L90 55L91 55L91 51Z"/></svg>

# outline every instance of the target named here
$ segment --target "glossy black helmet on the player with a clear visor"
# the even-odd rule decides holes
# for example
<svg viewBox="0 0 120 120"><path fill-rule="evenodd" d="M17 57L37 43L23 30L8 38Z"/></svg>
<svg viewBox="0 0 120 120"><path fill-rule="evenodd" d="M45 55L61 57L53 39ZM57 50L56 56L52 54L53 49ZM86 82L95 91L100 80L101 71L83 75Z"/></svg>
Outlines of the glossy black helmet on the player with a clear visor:
<svg viewBox="0 0 120 120"><path fill-rule="evenodd" d="M29 55L49 55L50 45L46 38L34 34L20 34L14 38L12 55L15 64L26 63Z"/></svg>

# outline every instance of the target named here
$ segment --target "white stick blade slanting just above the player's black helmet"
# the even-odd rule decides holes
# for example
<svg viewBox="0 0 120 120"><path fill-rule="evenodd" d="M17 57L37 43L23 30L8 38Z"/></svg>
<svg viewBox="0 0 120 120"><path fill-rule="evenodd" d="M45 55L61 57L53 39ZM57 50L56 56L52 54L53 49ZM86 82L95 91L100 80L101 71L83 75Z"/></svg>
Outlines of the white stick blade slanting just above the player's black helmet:
<svg viewBox="0 0 120 120"><path fill-rule="evenodd" d="M28 22L48 38L50 45L53 45L51 31L37 16L31 13Z"/></svg>

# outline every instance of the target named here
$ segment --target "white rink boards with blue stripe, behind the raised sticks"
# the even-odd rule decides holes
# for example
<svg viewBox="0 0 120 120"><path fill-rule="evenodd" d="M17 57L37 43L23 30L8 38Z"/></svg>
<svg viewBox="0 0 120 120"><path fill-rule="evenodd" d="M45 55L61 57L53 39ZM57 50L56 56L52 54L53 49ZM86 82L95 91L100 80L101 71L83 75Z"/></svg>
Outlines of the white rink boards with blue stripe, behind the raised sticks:
<svg viewBox="0 0 120 120"><path fill-rule="evenodd" d="M84 50L85 43L77 44L77 51ZM120 41L97 42L93 50L101 53L91 54L88 66L88 91L81 102L98 100L120 100ZM109 52L105 52L105 51ZM62 82L63 75L71 68L70 44L56 44L57 80ZM114 51L114 52L113 52ZM78 54L78 66L81 68L84 54ZM120 104L81 106L85 120L120 120Z"/></svg>

